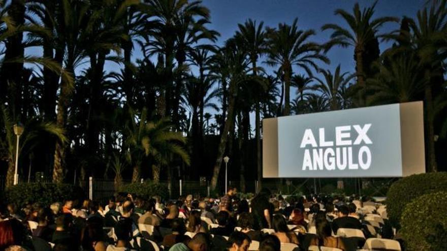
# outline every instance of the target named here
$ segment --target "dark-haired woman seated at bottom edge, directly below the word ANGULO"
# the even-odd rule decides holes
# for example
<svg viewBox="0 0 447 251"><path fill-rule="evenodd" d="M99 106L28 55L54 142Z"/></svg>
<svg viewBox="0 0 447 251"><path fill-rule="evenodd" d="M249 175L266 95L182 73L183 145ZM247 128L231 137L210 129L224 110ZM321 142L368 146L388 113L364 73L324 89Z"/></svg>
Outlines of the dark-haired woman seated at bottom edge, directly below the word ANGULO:
<svg viewBox="0 0 447 251"><path fill-rule="evenodd" d="M315 222L316 236L310 241L310 245L326 246L346 250L339 237L332 236L331 225L326 219L318 219Z"/></svg>

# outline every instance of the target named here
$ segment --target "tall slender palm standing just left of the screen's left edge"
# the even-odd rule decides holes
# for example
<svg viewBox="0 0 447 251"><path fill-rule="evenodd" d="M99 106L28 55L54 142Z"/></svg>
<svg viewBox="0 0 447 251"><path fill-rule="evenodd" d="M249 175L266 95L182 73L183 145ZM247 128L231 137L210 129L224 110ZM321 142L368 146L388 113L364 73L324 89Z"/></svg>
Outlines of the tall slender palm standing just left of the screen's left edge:
<svg viewBox="0 0 447 251"><path fill-rule="evenodd" d="M252 73L254 77L258 76L257 62L258 58L267 51L267 35L263 28L264 22L258 25L256 21L248 19L244 24L238 24L239 30L236 31L236 40L242 44L247 51L251 62ZM261 111L260 101L256 100L254 104L254 131L256 134L256 165L258 168L258 191L262 187L262 162L261 162Z"/></svg>

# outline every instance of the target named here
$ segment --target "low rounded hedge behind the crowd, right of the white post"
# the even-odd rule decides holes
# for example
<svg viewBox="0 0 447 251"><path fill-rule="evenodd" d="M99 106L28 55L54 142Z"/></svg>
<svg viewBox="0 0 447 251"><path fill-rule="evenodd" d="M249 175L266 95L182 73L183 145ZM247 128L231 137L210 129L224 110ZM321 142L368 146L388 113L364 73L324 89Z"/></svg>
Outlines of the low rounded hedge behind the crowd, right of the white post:
<svg viewBox="0 0 447 251"><path fill-rule="evenodd" d="M125 185L120 189L120 192L130 193L145 200L148 200L155 195L161 196L162 199L167 199L169 197L168 187L166 185L156 184L151 181L143 184L131 183L129 185Z"/></svg>

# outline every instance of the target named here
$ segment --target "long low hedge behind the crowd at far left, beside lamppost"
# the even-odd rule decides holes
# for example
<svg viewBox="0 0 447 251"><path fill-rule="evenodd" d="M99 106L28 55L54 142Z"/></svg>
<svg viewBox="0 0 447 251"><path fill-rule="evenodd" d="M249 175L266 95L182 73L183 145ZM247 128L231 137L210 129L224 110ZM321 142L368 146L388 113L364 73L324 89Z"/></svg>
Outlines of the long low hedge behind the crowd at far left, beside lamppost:
<svg viewBox="0 0 447 251"><path fill-rule="evenodd" d="M41 203L50 205L54 202L63 202L67 199L82 200L84 192L80 187L70 184L55 183L21 183L5 191L8 203L24 206L27 203Z"/></svg>

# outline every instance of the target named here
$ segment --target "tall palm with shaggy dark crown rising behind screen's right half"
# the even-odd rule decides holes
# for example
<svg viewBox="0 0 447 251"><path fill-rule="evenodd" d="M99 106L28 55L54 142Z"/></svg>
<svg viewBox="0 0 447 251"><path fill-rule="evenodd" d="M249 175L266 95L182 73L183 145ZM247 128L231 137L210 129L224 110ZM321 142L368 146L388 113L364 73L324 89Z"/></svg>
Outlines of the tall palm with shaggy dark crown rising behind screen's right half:
<svg viewBox="0 0 447 251"><path fill-rule="evenodd" d="M333 30L331 34L331 41L327 43L326 50L329 50L334 45L341 47L354 47L354 58L356 60L356 75L357 84L360 86L359 104L365 104L366 83L368 77L370 63L375 60L378 55L377 37L379 28L387 22L398 22L399 19L395 17L380 17L372 19L374 15L374 8L377 2L371 7L360 10L358 3L354 5L353 13L350 14L342 9L335 10L335 15L341 16L346 21L349 29L345 29L338 24L325 24L322 30ZM374 53L375 51L375 53ZM371 55L371 54L375 54ZM369 57L368 57L369 56Z"/></svg>

